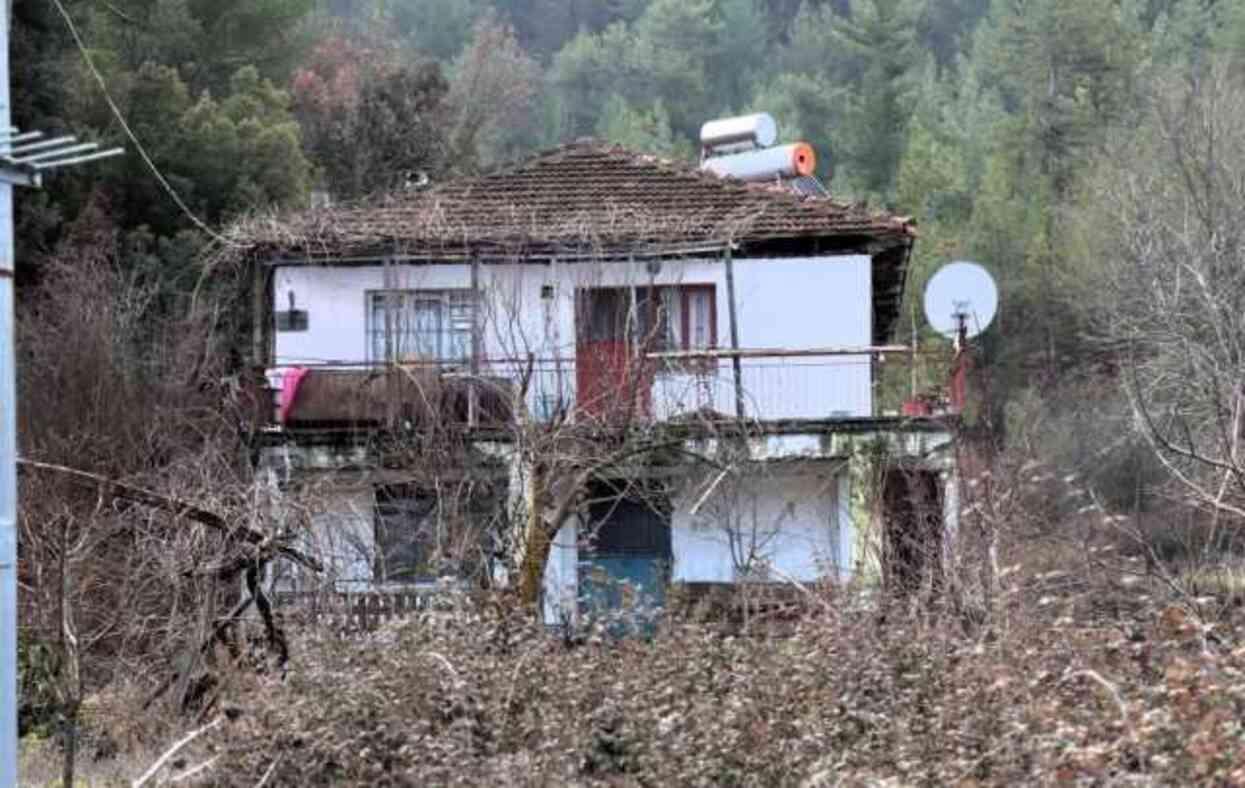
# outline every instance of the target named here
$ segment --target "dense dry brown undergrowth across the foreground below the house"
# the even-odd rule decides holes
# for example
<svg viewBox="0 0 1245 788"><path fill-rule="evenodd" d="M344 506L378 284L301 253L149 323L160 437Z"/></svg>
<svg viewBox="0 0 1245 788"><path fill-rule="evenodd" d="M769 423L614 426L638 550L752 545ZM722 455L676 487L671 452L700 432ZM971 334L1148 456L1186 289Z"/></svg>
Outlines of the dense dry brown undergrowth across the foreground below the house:
<svg viewBox="0 0 1245 788"><path fill-rule="evenodd" d="M428 614L296 639L286 680L239 683L203 754L237 786L1245 784L1235 607L1210 625L1116 591L1015 593L976 631L825 593L781 632L649 642Z"/></svg>

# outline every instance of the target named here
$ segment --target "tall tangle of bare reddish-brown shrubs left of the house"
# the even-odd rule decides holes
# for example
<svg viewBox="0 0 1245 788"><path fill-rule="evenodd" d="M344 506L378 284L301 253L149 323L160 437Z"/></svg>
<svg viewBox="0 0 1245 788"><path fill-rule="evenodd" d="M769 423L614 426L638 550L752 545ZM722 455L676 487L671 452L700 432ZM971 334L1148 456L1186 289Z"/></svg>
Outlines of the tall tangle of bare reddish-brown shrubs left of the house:
<svg viewBox="0 0 1245 788"><path fill-rule="evenodd" d="M255 503L214 311L162 303L127 273L96 208L40 266L19 314L22 728L60 731L68 759L76 720L83 754L163 738L141 698L209 670L193 657L239 586L203 571L237 554L220 529L101 479L242 524Z"/></svg>

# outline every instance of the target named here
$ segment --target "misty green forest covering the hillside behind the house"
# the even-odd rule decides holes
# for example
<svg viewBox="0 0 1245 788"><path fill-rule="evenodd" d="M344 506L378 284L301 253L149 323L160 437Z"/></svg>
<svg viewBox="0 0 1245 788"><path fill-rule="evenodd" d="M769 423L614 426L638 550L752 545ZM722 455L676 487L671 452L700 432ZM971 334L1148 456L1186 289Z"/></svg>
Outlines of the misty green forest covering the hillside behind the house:
<svg viewBox="0 0 1245 788"><path fill-rule="evenodd" d="M1120 158L1123 141L1170 131L1164 102L1205 98L1210 83L1243 90L1245 4L63 5L154 164L212 227L304 205L314 189L351 199L583 136L691 161L703 121L768 111L784 139L817 147L835 198L918 219L913 317L946 260L979 260L1000 279L985 349L997 433L1086 469L1122 505L1140 502L1155 471L1149 447L1122 437L1133 434L1127 393L1102 385L1118 377L1122 341L1102 276L1127 228L1099 195L1138 164ZM56 5L19 0L14 17L15 122L128 144ZM1158 167L1150 153L1140 163ZM21 195L22 286L67 254L83 217L110 228L112 259L156 294L153 309L176 311L199 283L210 238L128 156ZM899 339L919 325L909 311Z"/></svg>

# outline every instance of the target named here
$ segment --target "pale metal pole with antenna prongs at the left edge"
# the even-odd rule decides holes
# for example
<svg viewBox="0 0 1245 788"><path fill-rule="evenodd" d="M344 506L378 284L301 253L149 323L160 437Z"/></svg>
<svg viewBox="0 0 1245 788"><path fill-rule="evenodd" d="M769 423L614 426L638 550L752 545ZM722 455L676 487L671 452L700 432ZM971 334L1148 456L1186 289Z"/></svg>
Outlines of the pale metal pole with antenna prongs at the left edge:
<svg viewBox="0 0 1245 788"><path fill-rule="evenodd" d="M44 139L11 126L9 20L0 12L0 788L17 784L17 360L14 337L12 187L42 185L46 171L120 156L75 137Z"/></svg>

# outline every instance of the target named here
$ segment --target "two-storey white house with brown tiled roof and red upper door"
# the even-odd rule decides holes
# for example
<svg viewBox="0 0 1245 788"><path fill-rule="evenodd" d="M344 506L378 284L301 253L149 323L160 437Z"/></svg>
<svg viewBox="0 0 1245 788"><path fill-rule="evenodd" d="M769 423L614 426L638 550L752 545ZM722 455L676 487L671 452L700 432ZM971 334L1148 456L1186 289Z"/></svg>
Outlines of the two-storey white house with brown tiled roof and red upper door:
<svg viewBox="0 0 1245 788"><path fill-rule="evenodd" d="M878 397L903 218L584 141L235 238L259 462L337 590L527 570L565 620L909 576L954 527L946 421Z"/></svg>

